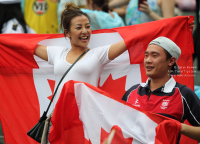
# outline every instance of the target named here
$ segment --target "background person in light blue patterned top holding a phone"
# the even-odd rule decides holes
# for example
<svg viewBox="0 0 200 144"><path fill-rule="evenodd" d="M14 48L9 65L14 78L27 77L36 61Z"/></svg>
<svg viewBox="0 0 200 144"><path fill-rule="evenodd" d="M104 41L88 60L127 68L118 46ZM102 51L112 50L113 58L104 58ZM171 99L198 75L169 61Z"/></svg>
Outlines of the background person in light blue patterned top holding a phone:
<svg viewBox="0 0 200 144"><path fill-rule="evenodd" d="M126 25L135 25L145 22L160 20L174 16L175 0L143 0L138 6L139 0L112 0L110 6L127 5L125 13ZM125 11L124 11L125 12Z"/></svg>

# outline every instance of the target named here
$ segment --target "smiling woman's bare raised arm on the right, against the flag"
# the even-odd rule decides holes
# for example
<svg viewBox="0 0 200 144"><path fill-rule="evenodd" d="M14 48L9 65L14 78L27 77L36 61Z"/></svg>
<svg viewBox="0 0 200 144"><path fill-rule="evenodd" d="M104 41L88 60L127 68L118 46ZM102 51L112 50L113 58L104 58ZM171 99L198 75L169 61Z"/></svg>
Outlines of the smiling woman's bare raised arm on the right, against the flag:
<svg viewBox="0 0 200 144"><path fill-rule="evenodd" d="M115 44L112 44L110 46L109 52L108 52L108 58L109 60L113 60L116 57L118 57L120 54L122 54L124 51L126 51L126 44L124 40L121 40Z"/></svg>

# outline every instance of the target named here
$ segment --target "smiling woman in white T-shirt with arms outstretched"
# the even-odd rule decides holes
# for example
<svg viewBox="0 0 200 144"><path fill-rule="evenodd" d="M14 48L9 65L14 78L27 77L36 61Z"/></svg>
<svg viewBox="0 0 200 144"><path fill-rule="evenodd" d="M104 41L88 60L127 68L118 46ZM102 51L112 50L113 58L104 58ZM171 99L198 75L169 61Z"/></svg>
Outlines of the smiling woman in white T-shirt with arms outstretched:
<svg viewBox="0 0 200 144"><path fill-rule="evenodd" d="M35 55L54 65L56 84L59 82L71 64L85 51L91 36L90 20L86 13L82 12L73 3L67 3L66 9L61 15L61 27L64 35L71 43L70 48L37 46ZM103 67L126 50L124 41L113 45L95 48L88 51L81 60L70 70L61 83L54 98L54 103L63 84L68 80L76 80L98 85L98 79Z"/></svg>

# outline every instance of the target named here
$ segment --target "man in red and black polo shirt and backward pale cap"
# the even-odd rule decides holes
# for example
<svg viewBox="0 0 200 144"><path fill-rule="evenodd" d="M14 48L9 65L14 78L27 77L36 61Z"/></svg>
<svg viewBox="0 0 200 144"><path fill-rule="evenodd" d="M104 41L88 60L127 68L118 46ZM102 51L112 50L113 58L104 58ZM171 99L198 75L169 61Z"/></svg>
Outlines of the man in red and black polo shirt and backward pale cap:
<svg viewBox="0 0 200 144"><path fill-rule="evenodd" d="M145 51L146 83L132 86L123 100L145 111L157 113L193 126L200 126L200 101L188 87L177 83L171 75L180 74L176 61L180 48L166 37L151 41ZM200 127L182 124L180 133L200 141Z"/></svg>

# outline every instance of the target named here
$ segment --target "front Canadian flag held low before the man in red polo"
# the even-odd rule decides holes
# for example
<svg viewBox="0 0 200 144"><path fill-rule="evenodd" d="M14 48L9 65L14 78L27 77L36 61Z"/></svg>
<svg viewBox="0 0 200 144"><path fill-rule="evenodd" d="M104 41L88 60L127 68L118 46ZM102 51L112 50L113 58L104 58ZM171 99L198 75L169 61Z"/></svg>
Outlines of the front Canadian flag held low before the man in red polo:
<svg viewBox="0 0 200 144"><path fill-rule="evenodd" d="M113 144L176 144L180 123L148 113L87 83L63 86L52 116L51 144L101 144L114 126Z"/></svg>

